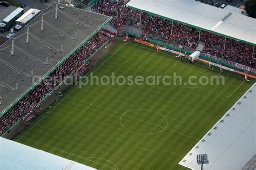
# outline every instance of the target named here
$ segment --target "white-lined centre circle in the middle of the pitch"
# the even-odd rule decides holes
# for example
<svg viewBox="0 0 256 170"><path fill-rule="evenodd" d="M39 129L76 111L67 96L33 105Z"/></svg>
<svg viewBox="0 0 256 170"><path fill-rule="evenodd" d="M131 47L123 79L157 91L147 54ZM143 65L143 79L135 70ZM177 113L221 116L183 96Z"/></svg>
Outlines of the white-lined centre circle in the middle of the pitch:
<svg viewBox="0 0 256 170"><path fill-rule="evenodd" d="M156 134L164 131L168 125L165 116L149 109L136 109L124 112L120 124L128 131L137 134Z"/></svg>

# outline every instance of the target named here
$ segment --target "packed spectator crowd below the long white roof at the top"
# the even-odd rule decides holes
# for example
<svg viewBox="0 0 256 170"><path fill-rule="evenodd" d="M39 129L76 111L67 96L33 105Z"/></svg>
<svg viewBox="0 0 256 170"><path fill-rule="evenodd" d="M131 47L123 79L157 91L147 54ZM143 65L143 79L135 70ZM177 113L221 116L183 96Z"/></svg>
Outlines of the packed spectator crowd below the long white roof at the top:
<svg viewBox="0 0 256 170"><path fill-rule="evenodd" d="M132 4L137 3L137 1L131 2ZM161 5L165 5L164 2ZM208 8L208 6L210 5L203 7ZM209 8L212 8L212 6ZM104 15L114 17L111 24L116 28L124 28L124 25L129 24L139 29L143 29L143 33L147 34L145 37L155 37L155 39L159 40L156 37L160 36L160 40L162 42L176 44L176 46L182 45L188 47L190 51L194 51L199 41L202 41L206 43L204 53L207 55L219 57L220 59L231 60L233 62L243 63L252 67L255 66L256 52L254 52L254 46L245 42L239 42L238 40L225 38L212 32L203 30L200 32L199 40L198 29L178 22L170 22L167 19L154 15L147 18L142 17L142 21L139 21L140 12L125 7L124 1L99 1L92 6L92 9L103 13ZM221 11L221 15L225 15L225 13ZM144 12L142 13L142 16L145 16ZM253 22L255 23L255 21ZM251 33L251 31L248 32ZM144 38L144 36L142 38Z"/></svg>

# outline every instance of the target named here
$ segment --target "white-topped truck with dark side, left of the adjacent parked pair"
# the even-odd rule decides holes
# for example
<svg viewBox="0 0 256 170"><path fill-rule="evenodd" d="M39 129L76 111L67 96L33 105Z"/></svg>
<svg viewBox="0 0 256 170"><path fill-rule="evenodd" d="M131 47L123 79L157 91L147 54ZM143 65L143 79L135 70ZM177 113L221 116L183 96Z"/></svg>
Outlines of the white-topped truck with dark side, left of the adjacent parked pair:
<svg viewBox="0 0 256 170"><path fill-rule="evenodd" d="M17 8L11 12L9 16L5 17L2 23L0 23L0 31L5 32L9 30L12 25L15 25L15 21L23 15L23 11L24 9Z"/></svg>

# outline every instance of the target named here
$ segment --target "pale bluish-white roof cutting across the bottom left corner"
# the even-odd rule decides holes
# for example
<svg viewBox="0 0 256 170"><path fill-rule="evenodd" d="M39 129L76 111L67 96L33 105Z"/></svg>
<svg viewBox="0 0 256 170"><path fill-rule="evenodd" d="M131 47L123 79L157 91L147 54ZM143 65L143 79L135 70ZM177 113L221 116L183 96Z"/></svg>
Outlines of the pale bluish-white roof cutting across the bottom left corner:
<svg viewBox="0 0 256 170"><path fill-rule="evenodd" d="M1 138L0 169L66 169L95 170L51 153Z"/></svg>

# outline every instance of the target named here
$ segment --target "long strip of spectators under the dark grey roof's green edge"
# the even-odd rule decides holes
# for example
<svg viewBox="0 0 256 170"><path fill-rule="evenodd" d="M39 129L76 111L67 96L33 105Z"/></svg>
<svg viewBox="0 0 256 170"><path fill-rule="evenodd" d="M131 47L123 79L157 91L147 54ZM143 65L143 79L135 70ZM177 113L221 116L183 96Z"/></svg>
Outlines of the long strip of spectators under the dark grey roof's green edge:
<svg viewBox="0 0 256 170"><path fill-rule="evenodd" d="M109 38L97 33L70 58L65 60L55 71L53 71L45 80L39 83L32 91L26 94L17 104L15 104L0 119L0 135L6 132L25 114L29 113L39 101L48 96L55 87L57 87L67 76L75 72L86 59L95 53Z"/></svg>

